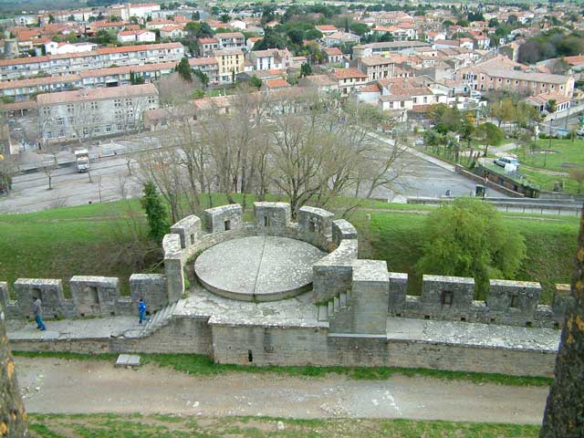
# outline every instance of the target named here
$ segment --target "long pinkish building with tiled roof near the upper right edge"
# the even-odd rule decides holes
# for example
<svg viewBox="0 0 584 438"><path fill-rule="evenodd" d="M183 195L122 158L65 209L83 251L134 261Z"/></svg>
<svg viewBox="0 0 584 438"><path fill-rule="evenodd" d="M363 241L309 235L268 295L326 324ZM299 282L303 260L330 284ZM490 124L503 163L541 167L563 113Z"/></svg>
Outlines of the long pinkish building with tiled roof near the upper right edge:
<svg viewBox="0 0 584 438"><path fill-rule="evenodd" d="M525 71L482 67L480 64L461 68L455 73L470 89L513 89L525 94L558 93L568 98L574 92L574 77L547 73L527 73Z"/></svg>

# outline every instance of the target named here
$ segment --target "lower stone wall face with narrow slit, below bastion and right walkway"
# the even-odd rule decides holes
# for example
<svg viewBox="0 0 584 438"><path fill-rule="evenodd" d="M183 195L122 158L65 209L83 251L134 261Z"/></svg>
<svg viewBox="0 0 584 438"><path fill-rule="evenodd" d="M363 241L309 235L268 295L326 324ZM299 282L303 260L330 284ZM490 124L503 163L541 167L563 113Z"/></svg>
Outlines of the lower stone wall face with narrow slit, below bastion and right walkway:
<svg viewBox="0 0 584 438"><path fill-rule="evenodd" d="M385 335L331 334L316 328L213 327L217 363L280 366L403 367L553 375L556 353L492 349L386 339Z"/></svg>

